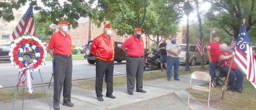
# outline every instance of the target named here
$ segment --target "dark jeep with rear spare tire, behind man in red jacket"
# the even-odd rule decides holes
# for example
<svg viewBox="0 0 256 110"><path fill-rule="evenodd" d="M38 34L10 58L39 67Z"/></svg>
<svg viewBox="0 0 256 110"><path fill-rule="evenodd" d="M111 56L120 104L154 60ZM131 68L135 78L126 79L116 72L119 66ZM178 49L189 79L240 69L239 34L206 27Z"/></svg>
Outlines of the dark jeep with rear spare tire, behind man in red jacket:
<svg viewBox="0 0 256 110"><path fill-rule="evenodd" d="M89 64L94 64L96 62L96 57L91 55L91 46L93 40L89 40L87 43L87 47L85 48L84 58L87 58ZM115 41L115 55L114 61L122 62L126 60L126 53L121 49L121 45L123 43Z"/></svg>

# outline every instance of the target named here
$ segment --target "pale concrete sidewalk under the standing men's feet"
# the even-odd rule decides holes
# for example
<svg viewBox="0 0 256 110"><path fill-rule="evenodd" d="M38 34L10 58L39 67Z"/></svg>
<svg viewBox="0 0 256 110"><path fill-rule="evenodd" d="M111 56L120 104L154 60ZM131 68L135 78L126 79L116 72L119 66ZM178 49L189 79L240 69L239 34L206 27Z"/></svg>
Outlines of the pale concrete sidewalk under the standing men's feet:
<svg viewBox="0 0 256 110"><path fill-rule="evenodd" d="M166 78L160 78L150 81L143 82L144 86L143 89L147 91L147 93L140 93L136 92L136 88L134 90L134 95L127 94L126 85L117 86L114 87L113 95L116 96L116 99L110 99L105 97L106 88L103 89L103 102L98 101L96 98L95 91L92 90L86 90L79 87L72 87L71 92L71 101L74 103L74 107L67 107L62 106L62 100L60 99L60 109L61 110L105 110L105 109L132 109L129 108L129 106L136 105L137 103L145 103L148 104L148 101L154 101L159 100L159 97L161 96L168 96L170 94L173 94L175 96L172 96L170 100L179 100L179 102L176 102L177 106L175 104L171 104L168 102L168 98L165 98L167 101L166 106L171 108L158 108L158 109L198 109L202 110L206 108L206 104L202 104L199 101L193 100L190 101L190 105L186 105L187 103L187 97L188 92L186 90L189 87L189 81L190 81L190 74L189 75L180 75L179 76L180 81L174 80L173 78L171 81L167 81ZM202 85L207 83L206 81L194 81L194 85ZM53 84L52 84L53 85ZM42 87L34 88L34 90L40 90L43 91ZM53 86L50 86L50 88L47 87L48 94L51 94L53 96ZM161 98L160 98L161 99ZM53 97L49 97L50 100L50 106L53 109ZM139 104L141 105L141 104ZM170 106L169 106L170 105ZM179 106L178 106L179 105ZM0 104L1 110L10 110L12 107L12 103L5 103ZM143 106L143 105L141 105ZM158 106L158 105L147 105L147 106ZM121 107L121 108L120 108ZM124 108L122 108L124 107ZM127 107L127 108L125 108ZM133 109L153 109L150 108L133 108ZM15 103L15 110L20 110L22 108L22 101L17 101ZM39 98L39 99L30 99L30 100L24 100L24 110L49 110L49 106L47 103L46 98ZM154 108L155 109L155 108ZM215 109L210 106L210 109Z"/></svg>

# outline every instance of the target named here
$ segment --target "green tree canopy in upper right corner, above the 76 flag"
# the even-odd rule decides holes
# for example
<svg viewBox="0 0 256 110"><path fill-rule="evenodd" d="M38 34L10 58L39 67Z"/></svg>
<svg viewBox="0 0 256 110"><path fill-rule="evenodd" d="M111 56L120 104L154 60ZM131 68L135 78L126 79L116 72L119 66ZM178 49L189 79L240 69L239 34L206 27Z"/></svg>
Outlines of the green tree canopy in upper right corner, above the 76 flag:
<svg viewBox="0 0 256 110"><path fill-rule="evenodd" d="M205 0L212 4L206 17L228 35L238 37L242 20L246 19L247 32L255 27L255 0Z"/></svg>

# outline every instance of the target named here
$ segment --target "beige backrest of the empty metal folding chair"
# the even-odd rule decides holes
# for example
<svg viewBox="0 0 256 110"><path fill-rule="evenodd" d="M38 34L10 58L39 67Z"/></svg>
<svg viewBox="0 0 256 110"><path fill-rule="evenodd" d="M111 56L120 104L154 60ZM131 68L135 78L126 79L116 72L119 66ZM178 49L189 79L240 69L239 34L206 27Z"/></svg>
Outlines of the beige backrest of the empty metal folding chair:
<svg viewBox="0 0 256 110"><path fill-rule="evenodd" d="M205 81L210 81L211 76L207 72L202 72L202 71L195 71L191 74L192 79L199 79L199 80L205 80Z"/></svg>

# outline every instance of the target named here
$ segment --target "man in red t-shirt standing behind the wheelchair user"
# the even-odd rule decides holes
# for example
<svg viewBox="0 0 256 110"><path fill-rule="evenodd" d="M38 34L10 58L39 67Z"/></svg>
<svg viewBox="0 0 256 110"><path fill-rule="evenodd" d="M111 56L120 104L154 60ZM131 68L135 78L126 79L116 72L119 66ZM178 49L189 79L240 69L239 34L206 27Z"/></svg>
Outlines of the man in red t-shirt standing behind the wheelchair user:
<svg viewBox="0 0 256 110"><path fill-rule="evenodd" d="M214 80L215 77L215 69L217 67L219 61L219 53L220 53L220 39L218 35L213 36L213 42L210 42L207 46L207 55L209 57L209 69L211 80ZM215 80L214 80L215 81ZM216 84L219 84L216 82Z"/></svg>

